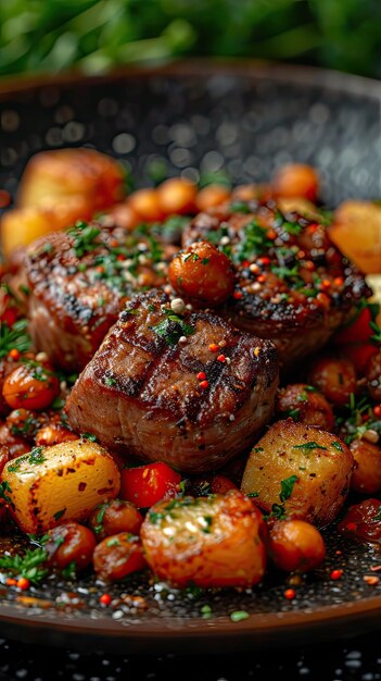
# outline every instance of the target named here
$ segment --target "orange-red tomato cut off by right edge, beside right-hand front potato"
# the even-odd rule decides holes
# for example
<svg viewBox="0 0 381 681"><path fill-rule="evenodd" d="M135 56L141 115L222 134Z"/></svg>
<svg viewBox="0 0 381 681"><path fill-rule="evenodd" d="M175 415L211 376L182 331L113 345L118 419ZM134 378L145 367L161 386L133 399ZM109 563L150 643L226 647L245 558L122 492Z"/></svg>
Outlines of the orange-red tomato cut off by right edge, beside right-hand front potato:
<svg viewBox="0 0 381 681"><path fill-rule="evenodd" d="M354 439L350 449L355 459L351 488L360 494L381 491L381 449L366 439Z"/></svg>

